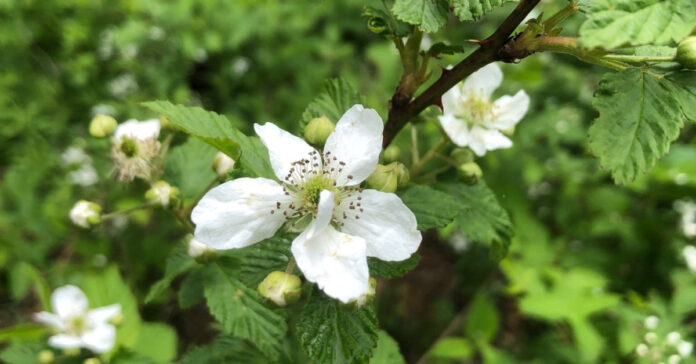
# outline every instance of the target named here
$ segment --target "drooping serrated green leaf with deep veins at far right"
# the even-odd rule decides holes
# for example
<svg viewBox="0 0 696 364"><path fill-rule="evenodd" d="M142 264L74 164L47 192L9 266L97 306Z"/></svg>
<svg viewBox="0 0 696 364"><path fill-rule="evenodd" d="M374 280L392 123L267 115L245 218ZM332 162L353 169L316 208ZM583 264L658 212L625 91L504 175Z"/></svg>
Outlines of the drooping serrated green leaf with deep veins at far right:
<svg viewBox="0 0 696 364"><path fill-rule="evenodd" d="M653 167L683 125L668 81L636 68L607 74L593 105L600 116L589 130L590 147L618 184Z"/></svg>

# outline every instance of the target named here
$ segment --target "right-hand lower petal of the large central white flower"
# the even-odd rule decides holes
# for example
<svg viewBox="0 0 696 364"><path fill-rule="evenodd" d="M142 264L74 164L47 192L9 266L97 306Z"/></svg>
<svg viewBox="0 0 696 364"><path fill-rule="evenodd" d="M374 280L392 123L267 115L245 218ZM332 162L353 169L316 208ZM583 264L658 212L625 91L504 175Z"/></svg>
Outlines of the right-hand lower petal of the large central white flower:
<svg viewBox="0 0 696 364"><path fill-rule="evenodd" d="M336 216L343 223L342 232L365 239L370 257L404 260L418 250L422 239L416 216L393 193L363 190L341 201Z"/></svg>

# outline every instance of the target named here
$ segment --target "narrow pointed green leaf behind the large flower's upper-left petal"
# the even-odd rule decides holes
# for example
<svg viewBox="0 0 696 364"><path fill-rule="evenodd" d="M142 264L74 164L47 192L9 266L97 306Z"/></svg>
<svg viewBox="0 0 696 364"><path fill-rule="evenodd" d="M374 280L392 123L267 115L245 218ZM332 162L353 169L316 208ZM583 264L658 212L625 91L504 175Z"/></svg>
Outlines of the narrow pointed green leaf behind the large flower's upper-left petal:
<svg viewBox="0 0 696 364"><path fill-rule="evenodd" d="M200 107L174 105L169 101L150 101L145 105L164 115L184 132L224 152L254 177L275 178L268 150L258 138L248 137L224 116Z"/></svg>

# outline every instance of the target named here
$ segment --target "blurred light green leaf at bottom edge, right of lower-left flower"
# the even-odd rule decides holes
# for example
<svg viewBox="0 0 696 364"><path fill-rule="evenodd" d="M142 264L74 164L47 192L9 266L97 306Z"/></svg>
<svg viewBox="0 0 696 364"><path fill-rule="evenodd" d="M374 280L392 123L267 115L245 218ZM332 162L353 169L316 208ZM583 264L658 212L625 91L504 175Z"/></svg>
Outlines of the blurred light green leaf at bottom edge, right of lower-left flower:
<svg viewBox="0 0 696 364"><path fill-rule="evenodd" d="M143 322L133 350L158 361L171 362L176 356L176 343L176 331L170 326Z"/></svg>

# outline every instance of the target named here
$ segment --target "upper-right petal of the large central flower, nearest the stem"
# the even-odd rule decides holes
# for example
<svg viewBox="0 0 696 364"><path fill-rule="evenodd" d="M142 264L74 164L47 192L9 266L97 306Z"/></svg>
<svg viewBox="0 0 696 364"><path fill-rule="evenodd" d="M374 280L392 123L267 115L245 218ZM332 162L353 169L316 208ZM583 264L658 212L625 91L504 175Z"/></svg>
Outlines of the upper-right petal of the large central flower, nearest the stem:
<svg viewBox="0 0 696 364"><path fill-rule="evenodd" d="M325 163L327 168L335 168L338 186L358 185L377 168L383 130L379 114L362 105L354 105L341 116L324 146Z"/></svg>

